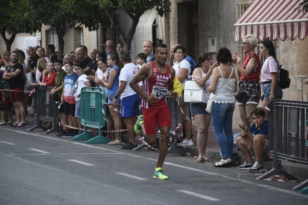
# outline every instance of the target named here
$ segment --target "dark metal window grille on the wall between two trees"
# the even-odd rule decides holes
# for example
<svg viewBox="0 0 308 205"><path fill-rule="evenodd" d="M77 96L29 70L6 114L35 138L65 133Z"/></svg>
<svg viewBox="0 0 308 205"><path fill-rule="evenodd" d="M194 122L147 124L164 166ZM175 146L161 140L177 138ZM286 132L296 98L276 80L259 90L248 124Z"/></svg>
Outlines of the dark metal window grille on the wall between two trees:
<svg viewBox="0 0 308 205"><path fill-rule="evenodd" d="M97 30L97 47L99 51L106 52L105 43L108 39L115 39L115 29L112 29L110 26L99 26Z"/></svg>

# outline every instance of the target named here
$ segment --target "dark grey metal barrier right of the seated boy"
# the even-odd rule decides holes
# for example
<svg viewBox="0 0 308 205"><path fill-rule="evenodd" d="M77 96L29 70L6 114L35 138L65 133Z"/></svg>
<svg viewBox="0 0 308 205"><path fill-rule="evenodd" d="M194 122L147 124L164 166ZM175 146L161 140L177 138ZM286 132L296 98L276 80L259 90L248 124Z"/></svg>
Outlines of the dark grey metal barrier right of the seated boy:
<svg viewBox="0 0 308 205"><path fill-rule="evenodd" d="M275 100L268 107L273 111L268 113L268 146L273 153L273 169L258 179L284 175L295 180L293 175L282 169L281 162L308 166L308 102ZM308 179L293 189L300 190L307 186Z"/></svg>

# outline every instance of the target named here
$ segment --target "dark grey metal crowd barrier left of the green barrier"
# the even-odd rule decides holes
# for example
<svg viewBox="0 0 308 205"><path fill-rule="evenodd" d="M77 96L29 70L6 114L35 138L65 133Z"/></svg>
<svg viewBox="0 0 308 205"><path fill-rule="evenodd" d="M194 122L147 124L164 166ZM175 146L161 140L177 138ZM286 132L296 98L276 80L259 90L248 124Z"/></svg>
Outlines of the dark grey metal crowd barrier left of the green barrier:
<svg viewBox="0 0 308 205"><path fill-rule="evenodd" d="M33 131L34 129L42 128L46 132L44 134L49 134L50 132L59 132L58 119L59 119L59 109L56 102L49 95L49 92L53 89L52 86L47 87L37 87L35 92L37 95L37 118L36 125L30 128L28 131ZM42 121L48 121L53 123L53 127L47 130L46 127L42 125Z"/></svg>

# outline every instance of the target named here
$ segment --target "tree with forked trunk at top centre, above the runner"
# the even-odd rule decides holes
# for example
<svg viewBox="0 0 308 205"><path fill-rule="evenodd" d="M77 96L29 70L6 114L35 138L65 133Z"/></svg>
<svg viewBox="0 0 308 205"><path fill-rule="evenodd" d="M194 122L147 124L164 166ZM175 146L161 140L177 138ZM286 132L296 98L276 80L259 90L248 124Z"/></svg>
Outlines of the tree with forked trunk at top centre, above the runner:
<svg viewBox="0 0 308 205"><path fill-rule="evenodd" d="M105 11L111 21L111 28L114 28L120 35L124 48L130 49L133 36L136 31L139 19L148 9L156 7L160 16L170 11L171 3L168 0L87 0L93 5L98 5ZM119 26L115 12L124 11L132 19L132 25L125 35Z"/></svg>

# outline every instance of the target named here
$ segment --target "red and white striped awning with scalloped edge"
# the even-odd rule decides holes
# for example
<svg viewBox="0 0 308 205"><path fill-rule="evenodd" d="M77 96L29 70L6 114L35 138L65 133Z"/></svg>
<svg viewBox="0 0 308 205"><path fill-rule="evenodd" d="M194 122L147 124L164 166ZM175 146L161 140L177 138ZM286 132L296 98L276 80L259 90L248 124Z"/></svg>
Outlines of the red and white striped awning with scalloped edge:
<svg viewBox="0 0 308 205"><path fill-rule="evenodd" d="M308 13L298 11L302 0L254 0L234 24L235 41L252 34L258 39L267 37L282 41L298 36L303 40L308 35Z"/></svg>

